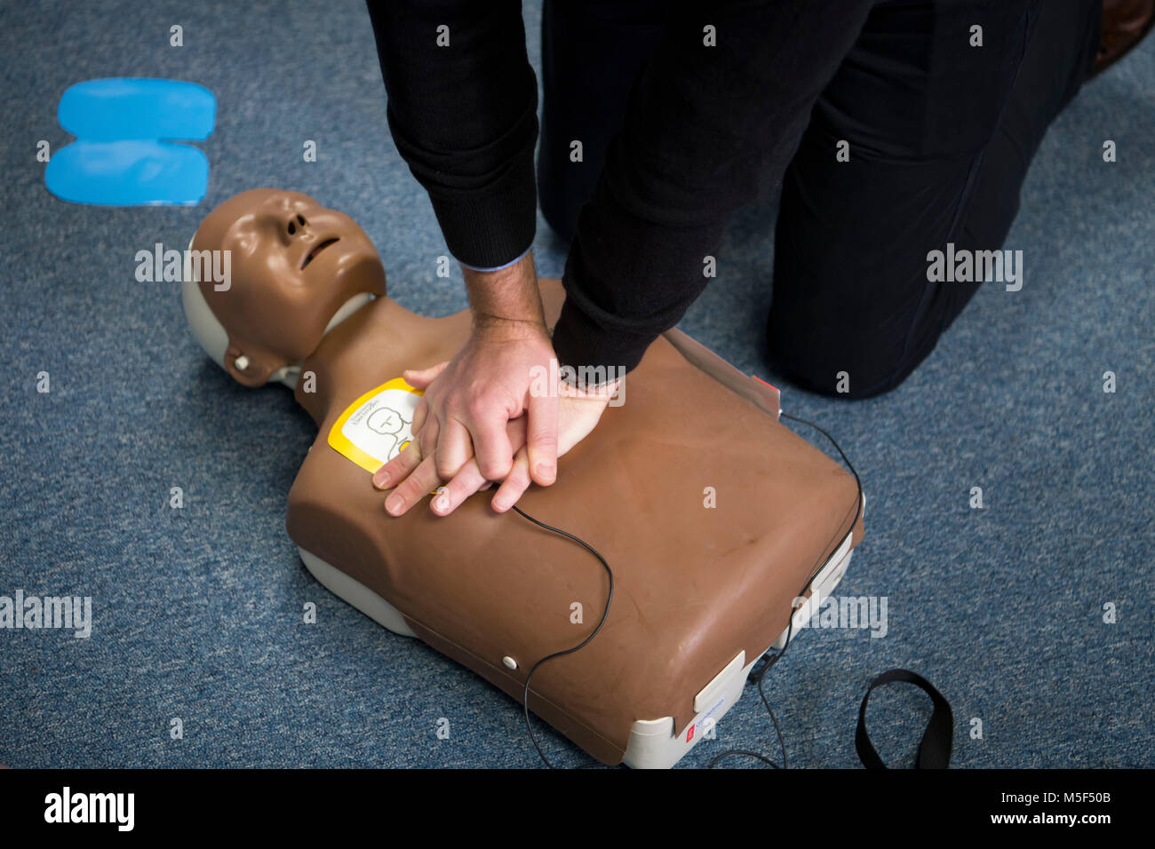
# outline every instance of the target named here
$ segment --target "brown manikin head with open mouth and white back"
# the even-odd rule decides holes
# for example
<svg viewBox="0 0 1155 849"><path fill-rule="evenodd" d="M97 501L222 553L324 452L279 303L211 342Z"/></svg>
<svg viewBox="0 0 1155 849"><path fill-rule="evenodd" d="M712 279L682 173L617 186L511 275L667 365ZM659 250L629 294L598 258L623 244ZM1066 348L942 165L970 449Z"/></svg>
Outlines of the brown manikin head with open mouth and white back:
<svg viewBox="0 0 1155 849"><path fill-rule="evenodd" d="M226 283L201 270L211 256L203 251L229 252ZM206 352L245 386L295 382L330 327L383 295L385 268L364 231L299 192L230 198L185 255L185 315Z"/></svg>

